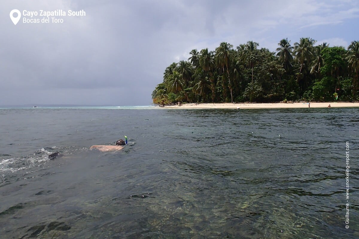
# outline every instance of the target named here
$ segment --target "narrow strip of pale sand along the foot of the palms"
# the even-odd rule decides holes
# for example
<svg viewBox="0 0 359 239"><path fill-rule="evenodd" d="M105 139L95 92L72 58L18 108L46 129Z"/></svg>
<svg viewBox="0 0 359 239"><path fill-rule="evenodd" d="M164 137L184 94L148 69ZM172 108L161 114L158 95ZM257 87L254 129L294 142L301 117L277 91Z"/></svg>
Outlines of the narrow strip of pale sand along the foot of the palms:
<svg viewBox="0 0 359 239"><path fill-rule="evenodd" d="M359 102L310 102L311 108L345 108L359 107ZM164 106L166 109L285 109L308 108L308 102L296 103L190 103L183 105Z"/></svg>

